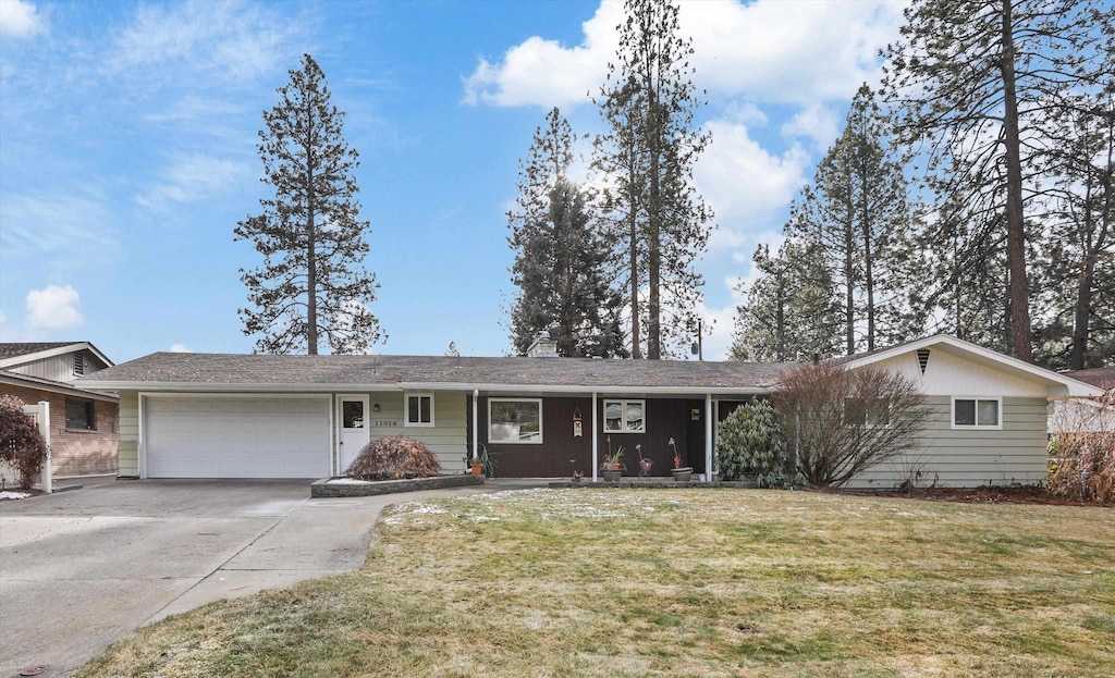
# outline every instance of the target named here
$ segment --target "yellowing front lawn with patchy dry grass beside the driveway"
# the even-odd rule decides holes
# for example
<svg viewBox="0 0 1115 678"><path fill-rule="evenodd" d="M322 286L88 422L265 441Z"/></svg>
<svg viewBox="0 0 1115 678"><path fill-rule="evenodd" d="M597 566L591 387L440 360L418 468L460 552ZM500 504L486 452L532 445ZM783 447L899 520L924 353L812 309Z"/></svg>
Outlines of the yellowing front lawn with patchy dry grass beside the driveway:
<svg viewBox="0 0 1115 678"><path fill-rule="evenodd" d="M361 572L171 618L78 676L1108 677L1113 519L726 490L405 504Z"/></svg>

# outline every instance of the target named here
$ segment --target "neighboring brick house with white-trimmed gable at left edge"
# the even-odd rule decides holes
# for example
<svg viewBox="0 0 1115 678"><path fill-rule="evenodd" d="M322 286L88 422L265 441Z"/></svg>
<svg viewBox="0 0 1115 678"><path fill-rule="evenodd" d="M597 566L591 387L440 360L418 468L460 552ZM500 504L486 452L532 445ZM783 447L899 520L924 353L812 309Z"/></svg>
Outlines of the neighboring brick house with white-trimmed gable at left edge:
<svg viewBox="0 0 1115 678"><path fill-rule="evenodd" d="M118 398L71 384L112 366L88 341L0 343L0 395L50 404L55 476L116 473Z"/></svg>

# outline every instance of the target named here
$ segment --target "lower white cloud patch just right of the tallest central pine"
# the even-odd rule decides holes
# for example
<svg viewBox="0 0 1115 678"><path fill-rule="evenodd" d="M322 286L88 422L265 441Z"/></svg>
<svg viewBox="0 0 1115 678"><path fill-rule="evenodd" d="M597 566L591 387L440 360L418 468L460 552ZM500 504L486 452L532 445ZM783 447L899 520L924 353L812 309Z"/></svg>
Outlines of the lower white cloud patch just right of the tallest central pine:
<svg viewBox="0 0 1115 678"><path fill-rule="evenodd" d="M718 229L709 252L738 248L746 234L770 225L805 183L808 154L792 146L772 154L748 134L745 125L712 120L712 143L697 161L694 178L716 212Z"/></svg>

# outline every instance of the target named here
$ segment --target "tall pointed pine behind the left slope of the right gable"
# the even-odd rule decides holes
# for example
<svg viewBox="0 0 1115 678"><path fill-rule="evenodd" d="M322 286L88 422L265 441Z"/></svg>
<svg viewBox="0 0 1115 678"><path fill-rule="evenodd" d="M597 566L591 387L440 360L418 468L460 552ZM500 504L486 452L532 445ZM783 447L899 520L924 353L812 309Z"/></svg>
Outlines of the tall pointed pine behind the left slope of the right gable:
<svg viewBox="0 0 1115 678"><path fill-rule="evenodd" d="M866 85L844 132L817 165L787 234L816 243L843 296L844 349L874 350L922 329L909 303L911 210L902 165L886 151L885 122Z"/></svg>

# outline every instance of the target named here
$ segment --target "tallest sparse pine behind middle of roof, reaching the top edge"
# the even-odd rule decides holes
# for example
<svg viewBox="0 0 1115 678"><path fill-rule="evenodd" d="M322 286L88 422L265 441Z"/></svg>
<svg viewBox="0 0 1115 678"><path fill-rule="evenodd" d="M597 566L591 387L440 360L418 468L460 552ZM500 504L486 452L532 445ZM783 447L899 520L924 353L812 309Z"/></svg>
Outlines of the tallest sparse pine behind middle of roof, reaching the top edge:
<svg viewBox="0 0 1115 678"><path fill-rule="evenodd" d="M709 141L694 128L698 105L689 59L669 0L627 0L618 27L617 62L601 89L609 130L598 139L595 166L613 190L605 205L623 242L632 353L658 360L671 338L696 329L701 277L694 271L711 229L711 210L692 184L692 167ZM646 290L646 313L640 297Z"/></svg>

